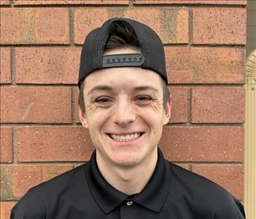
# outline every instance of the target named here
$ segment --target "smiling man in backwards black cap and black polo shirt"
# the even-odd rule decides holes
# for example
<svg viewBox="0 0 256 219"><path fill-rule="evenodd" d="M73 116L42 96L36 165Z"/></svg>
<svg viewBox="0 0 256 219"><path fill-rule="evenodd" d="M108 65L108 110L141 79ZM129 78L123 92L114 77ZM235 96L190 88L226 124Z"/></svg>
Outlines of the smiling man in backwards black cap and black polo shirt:
<svg viewBox="0 0 256 219"><path fill-rule="evenodd" d="M162 42L148 26L113 18L86 37L80 120L91 160L31 188L12 218L245 218L219 185L165 161L157 147L170 118Z"/></svg>

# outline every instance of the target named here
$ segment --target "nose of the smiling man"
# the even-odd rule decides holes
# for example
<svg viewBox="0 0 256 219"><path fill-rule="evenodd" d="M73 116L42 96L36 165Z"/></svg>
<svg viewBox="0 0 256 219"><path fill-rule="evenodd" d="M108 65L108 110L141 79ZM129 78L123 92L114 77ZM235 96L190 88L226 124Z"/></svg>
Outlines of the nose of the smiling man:
<svg viewBox="0 0 256 219"><path fill-rule="evenodd" d="M118 101L113 112L113 122L125 126L132 123L136 118L132 104L127 100Z"/></svg>

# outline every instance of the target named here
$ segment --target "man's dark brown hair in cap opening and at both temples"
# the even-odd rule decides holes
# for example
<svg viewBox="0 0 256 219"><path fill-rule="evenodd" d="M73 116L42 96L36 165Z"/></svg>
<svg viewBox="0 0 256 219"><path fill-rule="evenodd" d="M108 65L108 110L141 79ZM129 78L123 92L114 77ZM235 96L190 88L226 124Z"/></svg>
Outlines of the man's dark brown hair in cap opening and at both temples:
<svg viewBox="0 0 256 219"><path fill-rule="evenodd" d="M138 41L138 37L135 33L135 30L129 23L117 20L113 22L110 26L110 37L108 38L108 42L105 45L105 51L110 50L117 47L138 47L140 48L140 44ZM170 92L167 88L165 81L161 78L162 88L163 88L163 105L164 107L167 104L167 101L170 99ZM83 113L86 112L83 90L84 90L84 80L80 86L80 93L78 96L78 104Z"/></svg>

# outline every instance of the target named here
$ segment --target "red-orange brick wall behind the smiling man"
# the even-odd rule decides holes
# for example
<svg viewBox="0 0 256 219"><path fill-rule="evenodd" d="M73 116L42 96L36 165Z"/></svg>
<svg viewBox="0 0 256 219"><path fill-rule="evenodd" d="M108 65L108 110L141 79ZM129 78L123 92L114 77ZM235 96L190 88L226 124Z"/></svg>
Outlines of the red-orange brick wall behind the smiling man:
<svg viewBox="0 0 256 219"><path fill-rule="evenodd" d="M1 218L34 185L89 159L78 65L91 28L125 16L165 44L165 158L243 199L246 0L1 2Z"/></svg>

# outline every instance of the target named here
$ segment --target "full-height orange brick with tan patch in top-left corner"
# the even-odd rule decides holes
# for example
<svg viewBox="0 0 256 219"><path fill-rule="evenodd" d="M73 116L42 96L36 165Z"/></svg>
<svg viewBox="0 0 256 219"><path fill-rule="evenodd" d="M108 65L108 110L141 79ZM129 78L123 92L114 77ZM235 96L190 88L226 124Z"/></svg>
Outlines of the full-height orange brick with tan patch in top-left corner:
<svg viewBox="0 0 256 219"><path fill-rule="evenodd" d="M69 44L66 8L2 8L1 44Z"/></svg>

